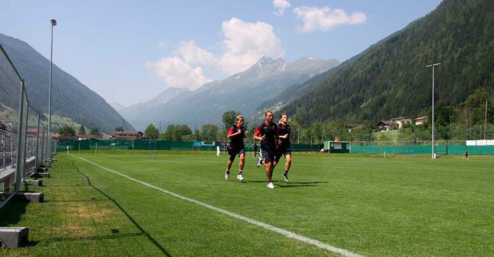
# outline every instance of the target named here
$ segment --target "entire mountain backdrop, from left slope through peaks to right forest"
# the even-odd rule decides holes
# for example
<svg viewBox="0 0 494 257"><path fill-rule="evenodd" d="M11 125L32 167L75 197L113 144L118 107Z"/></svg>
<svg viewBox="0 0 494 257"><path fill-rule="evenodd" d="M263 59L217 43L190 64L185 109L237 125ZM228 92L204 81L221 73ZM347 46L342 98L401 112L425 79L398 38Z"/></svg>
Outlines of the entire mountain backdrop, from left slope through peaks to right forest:
<svg viewBox="0 0 494 257"><path fill-rule="evenodd" d="M121 109L54 66L54 113L87 127L111 131L122 116L140 130L168 124L221 123L225 111L248 121L265 109L287 112L304 124L330 120L379 121L427 114L435 102L458 106L475 89L494 95L494 2L444 0L407 27L342 64L308 57L294 62L262 57L249 69L196 90L170 87L155 98ZM49 61L20 40L0 34L0 43L26 79L33 107L47 110ZM115 108L119 106L114 105Z"/></svg>

